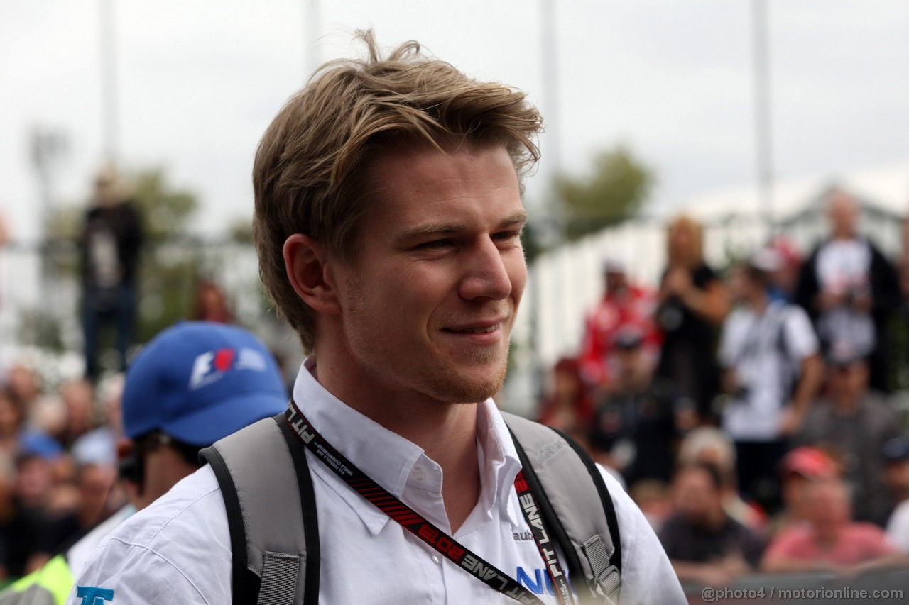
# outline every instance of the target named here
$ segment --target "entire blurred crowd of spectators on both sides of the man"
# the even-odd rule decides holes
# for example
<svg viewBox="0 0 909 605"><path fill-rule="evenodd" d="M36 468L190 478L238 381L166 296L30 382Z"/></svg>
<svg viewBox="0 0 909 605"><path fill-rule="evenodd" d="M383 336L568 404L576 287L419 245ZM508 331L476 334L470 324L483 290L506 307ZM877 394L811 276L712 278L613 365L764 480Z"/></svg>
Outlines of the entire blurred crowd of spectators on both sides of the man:
<svg viewBox="0 0 909 605"><path fill-rule="evenodd" d="M701 225L677 217L658 287L605 259L582 346L554 365L539 419L624 481L683 581L909 563L909 435L888 366L909 263L859 235L858 213L834 192L813 250L777 236L722 270L704 262ZM80 239L85 377L45 384L29 362L0 372L0 582L125 504L123 378L102 372L99 334L115 332L122 371L143 237L102 170ZM234 321L211 281L187 318Z"/></svg>

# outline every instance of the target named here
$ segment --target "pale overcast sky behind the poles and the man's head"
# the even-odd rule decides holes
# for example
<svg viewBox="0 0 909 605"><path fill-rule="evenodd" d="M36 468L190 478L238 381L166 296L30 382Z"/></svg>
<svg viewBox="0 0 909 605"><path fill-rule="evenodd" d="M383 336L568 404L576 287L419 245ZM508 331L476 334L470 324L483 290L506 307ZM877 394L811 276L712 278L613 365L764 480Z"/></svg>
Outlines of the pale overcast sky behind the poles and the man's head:
<svg viewBox="0 0 909 605"><path fill-rule="evenodd" d="M544 116L544 87L557 85L529 203L542 195L555 133L575 173L596 151L629 145L658 176L656 205L755 180L750 0L554 0L554 84L544 83L532 0L324 0L315 46L308 5L116 0L121 161L163 165L198 193L199 232L248 219L266 125L315 57L359 53L353 32L369 26L382 45L416 39L467 74L527 91ZM69 143L56 203L84 202L102 158L98 7L0 3L0 209L21 237L37 230L35 126ZM770 27L777 176L909 158L909 2L771 0Z"/></svg>

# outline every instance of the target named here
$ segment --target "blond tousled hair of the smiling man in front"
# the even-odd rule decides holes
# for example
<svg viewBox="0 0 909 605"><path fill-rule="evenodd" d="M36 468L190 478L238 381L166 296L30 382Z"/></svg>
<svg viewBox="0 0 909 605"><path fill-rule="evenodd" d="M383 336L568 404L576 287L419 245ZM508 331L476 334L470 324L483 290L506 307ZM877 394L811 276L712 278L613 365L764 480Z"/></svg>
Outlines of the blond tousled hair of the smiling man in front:
<svg viewBox="0 0 909 605"><path fill-rule="evenodd" d="M285 104L255 155L253 233L265 292L315 345L315 312L287 279L284 243L304 233L344 262L375 189L369 170L384 150L503 145L518 176L539 158L542 118L525 94L477 82L407 42L383 59L372 32L358 32L368 56L323 65Z"/></svg>

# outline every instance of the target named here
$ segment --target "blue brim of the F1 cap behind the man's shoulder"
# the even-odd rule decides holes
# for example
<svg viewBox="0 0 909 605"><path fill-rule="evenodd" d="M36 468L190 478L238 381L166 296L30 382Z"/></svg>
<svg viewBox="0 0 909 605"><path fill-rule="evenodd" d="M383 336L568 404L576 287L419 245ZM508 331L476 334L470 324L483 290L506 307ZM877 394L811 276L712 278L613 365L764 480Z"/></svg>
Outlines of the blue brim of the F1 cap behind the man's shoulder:
<svg viewBox="0 0 909 605"><path fill-rule="evenodd" d="M287 408L287 398L279 393L242 393L171 422L161 430L190 445L208 446L263 418Z"/></svg>

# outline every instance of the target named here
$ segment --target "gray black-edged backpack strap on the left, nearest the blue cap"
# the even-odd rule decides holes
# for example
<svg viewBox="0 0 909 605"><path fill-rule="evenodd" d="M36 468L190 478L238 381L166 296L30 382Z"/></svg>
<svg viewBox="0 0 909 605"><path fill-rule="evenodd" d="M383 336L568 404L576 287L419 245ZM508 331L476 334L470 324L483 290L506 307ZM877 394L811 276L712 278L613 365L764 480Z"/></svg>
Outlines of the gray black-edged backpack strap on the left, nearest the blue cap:
<svg viewBox="0 0 909 605"><path fill-rule="evenodd" d="M225 499L235 605L318 602L315 493L305 450L294 439L282 413L199 453ZM288 481L293 476L297 481Z"/></svg>

